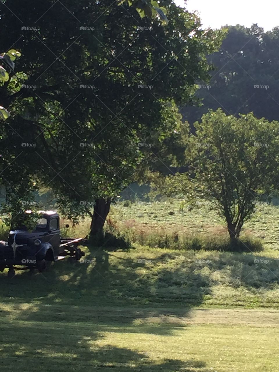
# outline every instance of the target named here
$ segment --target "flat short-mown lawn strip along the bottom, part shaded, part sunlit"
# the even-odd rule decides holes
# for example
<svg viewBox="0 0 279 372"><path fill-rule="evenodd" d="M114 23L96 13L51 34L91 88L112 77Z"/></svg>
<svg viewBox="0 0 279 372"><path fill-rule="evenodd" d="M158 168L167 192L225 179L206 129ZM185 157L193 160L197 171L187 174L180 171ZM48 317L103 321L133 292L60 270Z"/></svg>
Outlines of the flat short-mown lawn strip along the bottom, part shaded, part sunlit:
<svg viewBox="0 0 279 372"><path fill-rule="evenodd" d="M113 307L21 304L2 311L4 372L278 371L279 330L266 319L261 322L259 314L258 324L243 325L244 314L238 315L240 324L237 319L236 324L218 324L218 312L192 320L191 314L176 317L176 310L169 310L154 320L153 311L126 316L125 309L115 312ZM254 310L247 311L251 321Z"/></svg>

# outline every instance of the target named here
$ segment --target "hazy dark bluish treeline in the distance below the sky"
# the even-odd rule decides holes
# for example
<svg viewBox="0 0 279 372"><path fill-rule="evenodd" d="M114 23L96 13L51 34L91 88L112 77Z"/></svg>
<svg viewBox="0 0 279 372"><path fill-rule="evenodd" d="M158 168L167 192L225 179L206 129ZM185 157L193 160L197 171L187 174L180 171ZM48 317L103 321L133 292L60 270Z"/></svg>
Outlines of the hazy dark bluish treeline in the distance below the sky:
<svg viewBox="0 0 279 372"><path fill-rule="evenodd" d="M189 103L180 112L192 130L209 108L221 107L227 114L253 112L257 118L279 119L279 27L263 32L251 28L228 26L228 33L218 52L208 56L215 65L209 83L200 82L197 96L203 106Z"/></svg>

